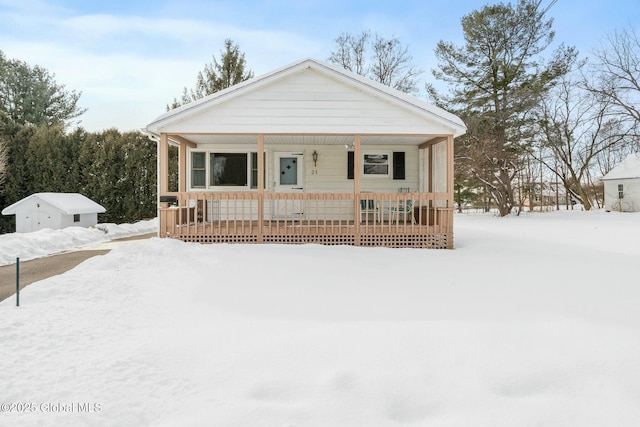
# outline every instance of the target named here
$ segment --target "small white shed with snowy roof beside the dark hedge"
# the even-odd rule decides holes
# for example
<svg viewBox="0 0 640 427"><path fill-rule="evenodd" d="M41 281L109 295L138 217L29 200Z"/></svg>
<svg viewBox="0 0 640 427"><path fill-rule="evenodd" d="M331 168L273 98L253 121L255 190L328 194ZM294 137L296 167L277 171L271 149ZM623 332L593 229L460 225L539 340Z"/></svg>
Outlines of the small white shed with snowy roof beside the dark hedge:
<svg viewBox="0 0 640 427"><path fill-rule="evenodd" d="M7 206L2 215L16 216L16 232L43 228L91 227L105 208L78 193L35 193Z"/></svg>

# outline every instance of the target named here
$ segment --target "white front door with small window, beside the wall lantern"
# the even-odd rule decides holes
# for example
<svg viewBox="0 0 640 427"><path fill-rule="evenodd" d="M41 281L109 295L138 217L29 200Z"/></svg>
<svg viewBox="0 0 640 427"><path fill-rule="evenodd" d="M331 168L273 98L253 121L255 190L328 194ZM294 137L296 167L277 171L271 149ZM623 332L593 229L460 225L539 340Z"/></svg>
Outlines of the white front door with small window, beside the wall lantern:
<svg viewBox="0 0 640 427"><path fill-rule="evenodd" d="M275 191L304 192L304 157L302 153L274 153ZM277 218L299 219L303 215L301 200L276 200L273 206Z"/></svg>

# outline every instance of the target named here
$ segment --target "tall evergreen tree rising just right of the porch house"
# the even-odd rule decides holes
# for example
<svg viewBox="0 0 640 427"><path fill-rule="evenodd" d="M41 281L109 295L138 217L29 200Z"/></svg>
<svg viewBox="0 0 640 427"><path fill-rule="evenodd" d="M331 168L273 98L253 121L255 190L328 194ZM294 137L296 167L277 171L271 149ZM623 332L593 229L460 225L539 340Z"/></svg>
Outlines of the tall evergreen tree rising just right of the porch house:
<svg viewBox="0 0 640 427"><path fill-rule="evenodd" d="M439 70L433 74L452 90L442 96L427 89L467 122L457 149L501 215L516 204L513 183L532 137L530 112L576 60L577 52L563 45L549 60L543 57L555 36L546 18L554 3L545 9L541 0L485 6L462 18L463 46L441 41L435 51Z"/></svg>

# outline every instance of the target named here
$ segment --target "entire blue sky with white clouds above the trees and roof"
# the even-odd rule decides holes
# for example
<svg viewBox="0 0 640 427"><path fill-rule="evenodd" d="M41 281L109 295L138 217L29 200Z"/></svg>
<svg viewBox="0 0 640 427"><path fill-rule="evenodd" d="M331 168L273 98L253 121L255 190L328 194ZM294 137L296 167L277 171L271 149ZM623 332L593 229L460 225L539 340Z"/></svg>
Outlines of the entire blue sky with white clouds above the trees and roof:
<svg viewBox="0 0 640 427"><path fill-rule="evenodd" d="M544 2L550 3L551 0ZM256 75L326 60L341 32L398 37L431 81L439 40L460 44L460 18L498 1L0 0L0 50L82 91L89 131L134 130L164 112L231 38ZM505 2L506 3L506 2ZM583 56L615 30L640 25L638 0L559 0L556 41Z"/></svg>

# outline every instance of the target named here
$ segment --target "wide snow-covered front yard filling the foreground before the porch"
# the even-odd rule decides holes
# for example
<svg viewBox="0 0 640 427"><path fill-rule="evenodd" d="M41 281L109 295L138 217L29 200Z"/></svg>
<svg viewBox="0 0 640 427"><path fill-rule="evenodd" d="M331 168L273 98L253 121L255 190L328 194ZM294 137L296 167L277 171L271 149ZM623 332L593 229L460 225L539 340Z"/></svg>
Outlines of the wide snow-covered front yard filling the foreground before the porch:
<svg viewBox="0 0 640 427"><path fill-rule="evenodd" d="M455 230L120 244L0 303L0 425L640 425L640 214Z"/></svg>

